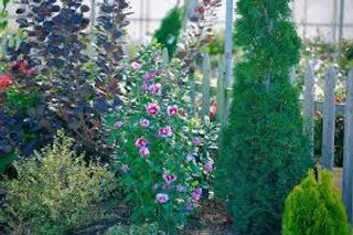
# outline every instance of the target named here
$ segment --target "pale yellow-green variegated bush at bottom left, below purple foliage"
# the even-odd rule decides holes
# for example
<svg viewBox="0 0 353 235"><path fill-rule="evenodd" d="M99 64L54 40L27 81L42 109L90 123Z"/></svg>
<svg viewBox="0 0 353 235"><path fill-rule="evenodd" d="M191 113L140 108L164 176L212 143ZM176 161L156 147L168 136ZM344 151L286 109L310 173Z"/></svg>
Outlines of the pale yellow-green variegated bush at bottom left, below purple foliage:
<svg viewBox="0 0 353 235"><path fill-rule="evenodd" d="M113 174L86 163L58 131L52 146L14 163L18 178L1 182L6 204L1 222L19 234L63 234L103 215L97 203L113 190Z"/></svg>

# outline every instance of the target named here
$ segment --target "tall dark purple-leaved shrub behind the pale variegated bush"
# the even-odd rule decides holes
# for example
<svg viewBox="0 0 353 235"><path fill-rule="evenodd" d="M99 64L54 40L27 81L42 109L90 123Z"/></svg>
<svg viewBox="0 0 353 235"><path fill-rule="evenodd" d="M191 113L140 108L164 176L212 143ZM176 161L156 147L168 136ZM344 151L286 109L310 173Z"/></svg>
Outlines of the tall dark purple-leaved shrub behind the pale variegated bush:
<svg viewBox="0 0 353 235"><path fill-rule="evenodd" d="M20 3L17 22L24 36L19 44L8 45L8 58L13 87L25 94L24 97L38 96L20 120L0 116L11 127L4 135L10 138L3 141L1 138L0 143L12 141L10 152L18 143L24 143L31 153L51 140L57 129L65 128L87 156L103 159L109 149L103 142L101 116L121 105L117 87L128 3L122 0L101 3L97 17L97 58L88 56L86 51L88 6L75 0ZM30 129L26 133L34 139L29 141L31 145L22 139L23 135L18 137L17 126Z"/></svg>

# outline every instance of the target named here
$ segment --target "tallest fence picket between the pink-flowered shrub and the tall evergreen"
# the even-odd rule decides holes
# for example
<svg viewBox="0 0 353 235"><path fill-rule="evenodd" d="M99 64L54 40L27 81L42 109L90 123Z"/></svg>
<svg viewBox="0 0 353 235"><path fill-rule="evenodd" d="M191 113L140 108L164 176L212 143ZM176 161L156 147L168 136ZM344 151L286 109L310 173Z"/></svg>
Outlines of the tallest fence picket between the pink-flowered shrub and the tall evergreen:
<svg viewBox="0 0 353 235"><path fill-rule="evenodd" d="M205 116L210 115L210 81L211 81L211 62L210 55L207 53L204 54L203 65L202 65L202 110L201 118L204 119Z"/></svg>

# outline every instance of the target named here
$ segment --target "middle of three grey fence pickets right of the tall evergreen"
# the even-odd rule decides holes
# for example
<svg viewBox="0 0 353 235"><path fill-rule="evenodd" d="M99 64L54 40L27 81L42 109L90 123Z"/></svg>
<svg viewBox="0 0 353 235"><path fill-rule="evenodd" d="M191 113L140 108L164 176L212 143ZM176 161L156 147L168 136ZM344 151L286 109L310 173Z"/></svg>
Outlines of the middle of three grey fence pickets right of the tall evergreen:
<svg viewBox="0 0 353 235"><path fill-rule="evenodd" d="M336 72L330 67L327 72L324 84L324 109L322 129L322 167L333 170L334 162L334 126L335 126L335 102L334 84Z"/></svg>

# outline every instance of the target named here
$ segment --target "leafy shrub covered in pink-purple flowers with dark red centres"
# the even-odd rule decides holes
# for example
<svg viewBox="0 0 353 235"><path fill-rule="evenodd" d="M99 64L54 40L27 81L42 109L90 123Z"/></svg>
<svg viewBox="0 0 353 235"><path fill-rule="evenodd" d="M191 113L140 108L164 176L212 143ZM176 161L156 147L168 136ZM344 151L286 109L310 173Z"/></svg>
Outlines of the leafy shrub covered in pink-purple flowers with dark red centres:
<svg viewBox="0 0 353 235"><path fill-rule="evenodd" d="M205 137L188 113L180 65L173 60L163 67L158 47L142 49L126 74L126 105L107 117L137 224L184 224L213 170L208 154L200 153Z"/></svg>

